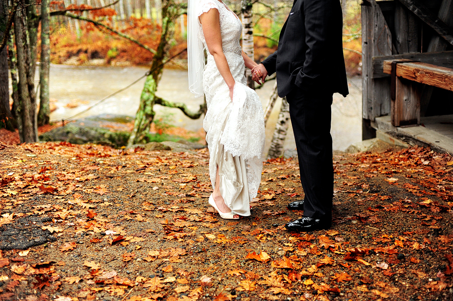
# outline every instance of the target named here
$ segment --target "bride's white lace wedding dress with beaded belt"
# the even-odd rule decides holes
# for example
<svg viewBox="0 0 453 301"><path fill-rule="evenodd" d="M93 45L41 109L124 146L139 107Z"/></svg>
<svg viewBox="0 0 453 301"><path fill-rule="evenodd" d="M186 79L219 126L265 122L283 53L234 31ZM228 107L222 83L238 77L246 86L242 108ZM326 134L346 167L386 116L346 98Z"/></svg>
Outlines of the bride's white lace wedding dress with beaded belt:
<svg viewBox="0 0 453 301"><path fill-rule="evenodd" d="M203 128L207 132L211 183L213 187L217 185L215 175L218 166L220 193L226 206L233 214L250 216L250 200L257 195L263 167L263 108L256 92L246 86L245 65L239 44L241 21L222 2L199 1L198 16L210 9L216 9L219 13L223 53L236 81L232 102L230 90L208 52L203 72L207 103ZM207 49L200 23L198 38Z"/></svg>

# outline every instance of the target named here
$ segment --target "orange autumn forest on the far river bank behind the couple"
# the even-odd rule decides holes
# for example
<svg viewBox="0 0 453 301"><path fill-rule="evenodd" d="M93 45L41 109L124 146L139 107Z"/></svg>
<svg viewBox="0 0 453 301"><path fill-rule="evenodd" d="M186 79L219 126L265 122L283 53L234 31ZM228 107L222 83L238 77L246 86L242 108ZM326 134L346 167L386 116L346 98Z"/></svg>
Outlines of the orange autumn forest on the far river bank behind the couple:
<svg viewBox="0 0 453 301"><path fill-rule="evenodd" d="M361 71L361 25L360 1L341 0L344 15L344 55L350 75ZM61 6L104 7L113 0L64 0L53 1L54 9ZM225 1L239 16L240 1ZM255 60L263 60L277 49L277 40L291 1L258 0L253 4L253 25ZM108 19L111 27L136 38L140 43L155 48L161 31L160 0L120 0L111 9L97 12ZM169 56L179 53L186 47L187 17L182 15L177 21ZM153 53L137 44L97 30L92 23L72 20L63 16L51 19L51 62L55 64L111 64L148 65ZM187 54L174 60L170 67L186 68Z"/></svg>

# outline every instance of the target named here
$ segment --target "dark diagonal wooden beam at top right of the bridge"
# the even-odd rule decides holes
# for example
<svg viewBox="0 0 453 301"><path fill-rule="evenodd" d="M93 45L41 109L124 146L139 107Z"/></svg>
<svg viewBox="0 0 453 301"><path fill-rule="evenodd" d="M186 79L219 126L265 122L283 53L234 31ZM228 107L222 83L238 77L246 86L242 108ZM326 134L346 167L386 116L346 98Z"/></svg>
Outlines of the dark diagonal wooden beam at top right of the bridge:
<svg viewBox="0 0 453 301"><path fill-rule="evenodd" d="M419 0L399 0L399 2L431 27L445 41L453 45L453 30L442 22L442 20L434 16Z"/></svg>

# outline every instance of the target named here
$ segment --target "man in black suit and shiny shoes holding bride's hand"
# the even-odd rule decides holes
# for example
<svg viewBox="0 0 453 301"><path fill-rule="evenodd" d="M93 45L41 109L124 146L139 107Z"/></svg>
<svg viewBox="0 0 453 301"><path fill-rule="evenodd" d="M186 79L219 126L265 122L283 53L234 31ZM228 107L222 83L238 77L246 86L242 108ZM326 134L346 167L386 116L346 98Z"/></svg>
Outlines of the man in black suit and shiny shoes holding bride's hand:
<svg viewBox="0 0 453 301"><path fill-rule="evenodd" d="M346 96L348 84L339 0L294 0L278 50L252 70L261 84L277 72L277 90L289 104L305 198L288 204L304 216L289 231L328 229L332 224L333 164L330 135L332 94ZM261 83L260 83L261 80Z"/></svg>

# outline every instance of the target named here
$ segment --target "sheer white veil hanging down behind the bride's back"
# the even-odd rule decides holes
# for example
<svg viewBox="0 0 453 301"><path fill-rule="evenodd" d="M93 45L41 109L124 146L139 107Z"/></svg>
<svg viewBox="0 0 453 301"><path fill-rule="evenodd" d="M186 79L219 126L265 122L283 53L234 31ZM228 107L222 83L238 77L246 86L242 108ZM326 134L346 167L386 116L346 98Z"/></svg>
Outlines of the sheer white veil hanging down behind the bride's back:
<svg viewBox="0 0 453 301"><path fill-rule="evenodd" d="M189 0L187 12L187 65L189 90L195 97L203 96L204 47L198 38L198 5L200 0Z"/></svg>

